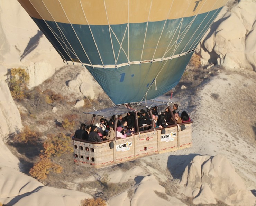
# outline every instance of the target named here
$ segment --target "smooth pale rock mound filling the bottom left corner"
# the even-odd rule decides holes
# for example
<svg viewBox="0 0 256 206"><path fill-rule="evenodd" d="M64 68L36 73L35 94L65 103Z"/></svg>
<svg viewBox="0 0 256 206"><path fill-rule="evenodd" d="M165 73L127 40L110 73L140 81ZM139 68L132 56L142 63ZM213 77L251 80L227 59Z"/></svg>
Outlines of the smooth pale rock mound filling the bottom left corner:
<svg viewBox="0 0 256 206"><path fill-rule="evenodd" d="M0 202L16 206L79 206L90 195L74 190L43 186L36 179L10 169L0 170Z"/></svg>

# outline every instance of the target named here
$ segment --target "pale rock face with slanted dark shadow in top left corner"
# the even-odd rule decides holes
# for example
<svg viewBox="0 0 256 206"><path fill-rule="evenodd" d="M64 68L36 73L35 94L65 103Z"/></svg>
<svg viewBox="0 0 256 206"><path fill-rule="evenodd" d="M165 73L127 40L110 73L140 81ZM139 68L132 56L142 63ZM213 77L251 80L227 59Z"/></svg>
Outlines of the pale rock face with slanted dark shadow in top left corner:
<svg viewBox="0 0 256 206"><path fill-rule="evenodd" d="M65 65L18 1L1 1L0 22L0 64L5 68L26 69L30 88Z"/></svg>

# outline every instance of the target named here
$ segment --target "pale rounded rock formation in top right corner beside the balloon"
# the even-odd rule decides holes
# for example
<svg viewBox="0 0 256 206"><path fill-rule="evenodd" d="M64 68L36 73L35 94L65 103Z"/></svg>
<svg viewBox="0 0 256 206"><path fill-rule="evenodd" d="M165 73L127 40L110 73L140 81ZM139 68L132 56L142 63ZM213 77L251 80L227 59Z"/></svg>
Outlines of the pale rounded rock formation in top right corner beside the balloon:
<svg viewBox="0 0 256 206"><path fill-rule="evenodd" d="M203 65L256 68L256 4L243 0L230 10L225 7L196 48Z"/></svg>

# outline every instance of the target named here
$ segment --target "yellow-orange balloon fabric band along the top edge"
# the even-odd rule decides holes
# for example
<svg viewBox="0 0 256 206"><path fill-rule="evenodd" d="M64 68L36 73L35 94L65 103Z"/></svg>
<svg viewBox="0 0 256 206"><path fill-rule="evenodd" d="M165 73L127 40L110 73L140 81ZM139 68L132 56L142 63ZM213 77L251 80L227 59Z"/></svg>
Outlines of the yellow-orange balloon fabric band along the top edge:
<svg viewBox="0 0 256 206"><path fill-rule="evenodd" d="M30 0L33 6L30 4L29 0L18 1L31 17L82 25L87 25L88 23L90 25L107 25L108 20L109 24L125 24L128 22L128 18L129 23L147 22L151 4L151 0L129 0L129 5L128 0L105 0L105 7L103 0L81 0L82 9L79 0L60 0L60 2L58 0L42 0L47 10L42 1L39 0ZM178 19L206 13L224 6L227 1L228 0L153 0L149 21ZM169 13L170 8L171 11Z"/></svg>

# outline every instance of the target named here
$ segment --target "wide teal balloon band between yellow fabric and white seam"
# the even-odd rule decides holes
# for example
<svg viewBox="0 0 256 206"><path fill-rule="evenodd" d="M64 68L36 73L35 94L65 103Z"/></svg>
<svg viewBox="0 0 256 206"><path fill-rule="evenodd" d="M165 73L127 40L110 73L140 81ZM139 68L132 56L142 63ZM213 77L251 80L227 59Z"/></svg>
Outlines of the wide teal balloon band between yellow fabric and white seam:
<svg viewBox="0 0 256 206"><path fill-rule="evenodd" d="M70 56L73 59L78 57L86 64L115 65L127 63L128 56L130 62L144 61L195 49L220 10L221 8L193 17L167 20L166 24L165 21L148 22L148 24L147 22L130 23L129 38L127 24L110 25L112 30L109 30L108 25L91 25L89 28L88 25L71 26L48 21L46 23L50 30L43 20L34 19L34 21L63 56Z"/></svg>

